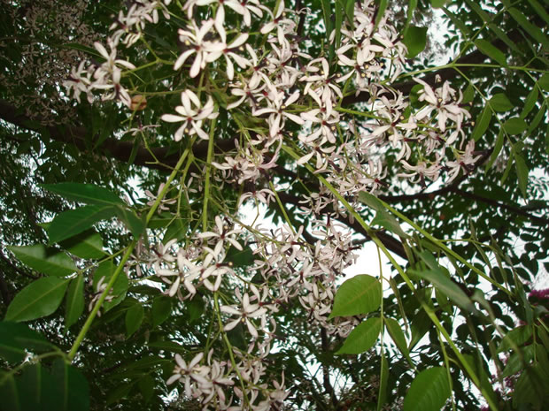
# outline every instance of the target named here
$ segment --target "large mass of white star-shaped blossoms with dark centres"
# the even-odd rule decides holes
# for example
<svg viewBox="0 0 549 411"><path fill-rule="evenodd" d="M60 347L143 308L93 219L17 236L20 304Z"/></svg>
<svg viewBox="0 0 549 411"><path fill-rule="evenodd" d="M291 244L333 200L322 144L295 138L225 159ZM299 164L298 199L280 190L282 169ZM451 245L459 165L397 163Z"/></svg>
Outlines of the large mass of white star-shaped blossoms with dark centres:
<svg viewBox="0 0 549 411"><path fill-rule="evenodd" d="M174 30L179 47L174 79L160 81L164 90L181 93L176 114L160 116L178 123L174 141L196 135L213 147L218 136L230 133L213 128L211 120L221 114L237 133L232 149L202 165L212 172L215 186L241 188L236 204L221 204L225 216L215 217L212 228L203 225L203 232L139 257L166 284L166 295L182 301L197 293L211 297L219 318L217 336L242 325L249 338L247 350L225 346L230 362L215 359L213 351L206 359L204 352L186 359L175 355L168 384L180 381L187 396L205 408L267 410L285 399L283 375L267 381L264 363L275 344L275 317L282 307L298 303L311 321L341 337L358 323L356 317L328 320L337 280L359 248L340 222L352 223L352 216L339 198L360 211L358 194L378 192L391 178L421 186L441 176L451 181L470 172L479 158L474 142L465 138L468 110L450 83L415 79L420 86L415 102L390 86L404 71L406 47L389 14L375 21L373 0L354 5L353 21L340 27L338 39L336 33L328 35L333 61L324 53L308 54L312 48L296 41L299 14L286 9L283 0L277 4L273 11L257 0L188 0ZM174 11L168 5L134 2L126 14L120 12L107 41L110 51L95 43L104 62L81 64L66 82L74 97L84 93L91 101L100 90L102 99L131 108L131 95L142 90L123 84L125 74L138 65L118 58L117 47L119 42L137 44L145 25L158 23L161 14L169 18ZM353 95L367 95L367 110L344 108ZM292 154L295 163L284 168L282 152ZM393 156L400 169L388 170L384 156ZM267 230L239 222L238 209L249 200L282 207L289 183L274 179L272 171L282 170L297 181L301 167L324 175L338 194L323 185L307 187L309 193L294 202L307 225L287 221ZM205 186L193 181L182 181L181 192L198 198ZM167 212L174 206L165 200L161 204ZM255 262L241 272L229 251L244 249ZM228 295L224 289L234 292Z"/></svg>

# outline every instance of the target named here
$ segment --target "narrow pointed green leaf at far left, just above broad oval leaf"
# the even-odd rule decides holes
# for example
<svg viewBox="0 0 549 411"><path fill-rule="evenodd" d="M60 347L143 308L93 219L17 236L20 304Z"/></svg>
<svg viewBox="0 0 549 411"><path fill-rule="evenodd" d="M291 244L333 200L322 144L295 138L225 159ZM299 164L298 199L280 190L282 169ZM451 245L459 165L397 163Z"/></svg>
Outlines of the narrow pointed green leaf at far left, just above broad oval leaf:
<svg viewBox="0 0 549 411"><path fill-rule="evenodd" d="M43 274L54 277L66 277L78 270L71 257L55 248L42 244L35 246L8 247L22 263Z"/></svg>

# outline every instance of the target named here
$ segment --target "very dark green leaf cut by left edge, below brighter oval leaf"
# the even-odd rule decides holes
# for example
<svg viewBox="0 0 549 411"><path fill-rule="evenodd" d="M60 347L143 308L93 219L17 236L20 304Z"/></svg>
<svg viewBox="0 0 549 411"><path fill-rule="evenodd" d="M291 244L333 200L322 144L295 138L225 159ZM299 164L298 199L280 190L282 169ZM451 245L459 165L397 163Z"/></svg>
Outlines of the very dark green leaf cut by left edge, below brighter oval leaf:
<svg viewBox="0 0 549 411"><path fill-rule="evenodd" d="M42 354L52 350L53 345L26 323L0 322L0 357L6 362L22 362L27 353Z"/></svg>

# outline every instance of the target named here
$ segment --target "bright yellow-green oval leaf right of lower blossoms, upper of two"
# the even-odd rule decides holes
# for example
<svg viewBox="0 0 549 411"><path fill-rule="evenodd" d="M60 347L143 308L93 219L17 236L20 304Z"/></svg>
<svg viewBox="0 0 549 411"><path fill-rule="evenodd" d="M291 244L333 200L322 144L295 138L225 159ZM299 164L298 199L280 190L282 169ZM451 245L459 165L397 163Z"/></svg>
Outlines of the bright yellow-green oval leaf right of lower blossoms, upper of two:
<svg viewBox="0 0 549 411"><path fill-rule="evenodd" d="M346 280L337 290L329 318L357 316L379 308L382 285L377 278L361 274Z"/></svg>

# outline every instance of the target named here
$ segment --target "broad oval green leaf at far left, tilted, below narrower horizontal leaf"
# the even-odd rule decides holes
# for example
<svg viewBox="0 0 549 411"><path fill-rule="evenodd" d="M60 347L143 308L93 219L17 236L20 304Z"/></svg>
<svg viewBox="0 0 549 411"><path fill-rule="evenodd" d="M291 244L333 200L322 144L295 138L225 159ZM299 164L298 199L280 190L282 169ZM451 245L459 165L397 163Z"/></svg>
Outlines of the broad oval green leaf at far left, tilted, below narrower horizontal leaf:
<svg viewBox="0 0 549 411"><path fill-rule="evenodd" d="M28 321L50 316L63 300L69 280L39 278L23 288L8 307L4 321Z"/></svg>

